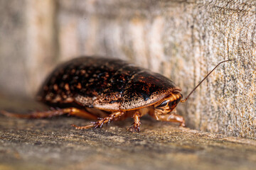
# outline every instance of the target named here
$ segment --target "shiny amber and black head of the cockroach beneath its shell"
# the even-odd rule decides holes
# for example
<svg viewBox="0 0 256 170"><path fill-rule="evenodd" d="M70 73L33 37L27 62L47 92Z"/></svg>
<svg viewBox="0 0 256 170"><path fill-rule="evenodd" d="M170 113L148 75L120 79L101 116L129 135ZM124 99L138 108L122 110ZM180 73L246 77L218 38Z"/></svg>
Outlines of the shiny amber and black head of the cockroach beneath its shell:
<svg viewBox="0 0 256 170"><path fill-rule="evenodd" d="M157 115L166 115L176 112L176 106L181 101L182 94L178 91L173 91L171 94L163 98L158 103L154 104L154 111Z"/></svg>

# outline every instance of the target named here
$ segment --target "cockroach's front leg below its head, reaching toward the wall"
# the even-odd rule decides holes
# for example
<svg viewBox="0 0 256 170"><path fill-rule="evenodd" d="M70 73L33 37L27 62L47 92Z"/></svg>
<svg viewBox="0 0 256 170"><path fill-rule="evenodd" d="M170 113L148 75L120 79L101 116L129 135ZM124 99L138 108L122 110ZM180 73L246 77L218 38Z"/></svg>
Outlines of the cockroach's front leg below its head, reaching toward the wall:
<svg viewBox="0 0 256 170"><path fill-rule="evenodd" d="M165 122L175 122L180 123L181 127L185 126L185 120L181 115L176 115L174 113L167 114L167 115L151 115L151 117L155 118L156 120L165 121Z"/></svg>

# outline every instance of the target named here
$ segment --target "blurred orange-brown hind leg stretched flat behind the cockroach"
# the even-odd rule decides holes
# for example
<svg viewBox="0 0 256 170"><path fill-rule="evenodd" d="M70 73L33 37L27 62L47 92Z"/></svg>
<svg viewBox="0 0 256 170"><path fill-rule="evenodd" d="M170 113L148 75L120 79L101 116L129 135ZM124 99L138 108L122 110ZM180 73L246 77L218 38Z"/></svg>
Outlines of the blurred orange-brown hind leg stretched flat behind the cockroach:
<svg viewBox="0 0 256 170"><path fill-rule="evenodd" d="M8 117L15 117L15 118L51 118L57 115L68 114L68 115L75 115L80 118L87 118L92 120L97 119L96 115L92 115L91 113L79 108L56 108L50 111L35 111L30 114L9 113L7 111L0 111L0 113Z"/></svg>

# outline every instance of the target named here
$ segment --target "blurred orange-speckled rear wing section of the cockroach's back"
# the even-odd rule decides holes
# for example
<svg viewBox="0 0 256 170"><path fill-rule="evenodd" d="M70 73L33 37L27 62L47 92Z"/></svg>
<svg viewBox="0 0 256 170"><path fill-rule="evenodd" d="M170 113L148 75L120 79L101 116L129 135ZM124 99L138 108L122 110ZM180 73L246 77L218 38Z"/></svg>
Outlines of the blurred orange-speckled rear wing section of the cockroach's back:
<svg viewBox="0 0 256 170"><path fill-rule="evenodd" d="M38 93L38 99L48 105L77 101L82 106L92 107L92 98L100 96L112 75L125 65L127 63L122 60L75 58L60 64L50 74Z"/></svg>

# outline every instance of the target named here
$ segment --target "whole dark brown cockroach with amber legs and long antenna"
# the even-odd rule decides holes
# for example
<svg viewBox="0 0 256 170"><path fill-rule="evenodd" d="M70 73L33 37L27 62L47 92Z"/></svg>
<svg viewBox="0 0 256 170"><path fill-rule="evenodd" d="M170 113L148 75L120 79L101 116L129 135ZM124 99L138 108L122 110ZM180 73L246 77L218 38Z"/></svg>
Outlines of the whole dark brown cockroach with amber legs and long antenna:
<svg viewBox="0 0 256 170"><path fill-rule="evenodd" d="M223 62L228 61L231 60ZM57 67L38 92L38 101L53 109L28 115L1 113L18 118L68 114L95 120L90 125L73 125L78 130L102 128L112 121L132 117L134 123L127 130L135 132L140 130L140 118L148 113L156 120L176 122L183 127L185 120L176 115L176 106L186 102L213 70L182 99L181 89L161 74L123 60L78 57Z"/></svg>

